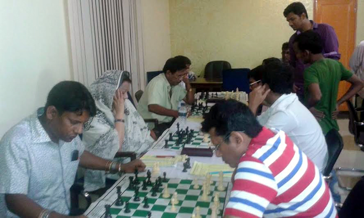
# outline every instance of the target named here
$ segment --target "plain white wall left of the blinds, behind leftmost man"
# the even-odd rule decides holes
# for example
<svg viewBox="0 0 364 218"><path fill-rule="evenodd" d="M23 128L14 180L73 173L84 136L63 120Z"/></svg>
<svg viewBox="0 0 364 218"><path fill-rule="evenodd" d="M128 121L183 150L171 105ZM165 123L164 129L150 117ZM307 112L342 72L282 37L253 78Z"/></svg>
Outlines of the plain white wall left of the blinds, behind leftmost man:
<svg viewBox="0 0 364 218"><path fill-rule="evenodd" d="M0 137L72 79L65 0L0 0Z"/></svg>

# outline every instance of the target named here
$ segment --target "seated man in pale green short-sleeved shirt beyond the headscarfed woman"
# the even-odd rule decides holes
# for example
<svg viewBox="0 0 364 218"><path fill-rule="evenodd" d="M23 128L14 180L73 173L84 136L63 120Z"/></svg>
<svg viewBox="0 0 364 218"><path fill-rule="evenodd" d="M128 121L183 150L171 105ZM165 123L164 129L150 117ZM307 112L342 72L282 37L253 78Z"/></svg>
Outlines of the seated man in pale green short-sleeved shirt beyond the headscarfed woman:
<svg viewBox="0 0 364 218"><path fill-rule="evenodd" d="M159 137L178 117L178 103L184 100L192 104L195 100L187 74L191 61L184 56L176 56L165 62L163 73L147 85L138 103L138 112L143 119L157 119L159 124L153 131ZM179 86L183 81L185 89ZM149 126L152 127L152 126Z"/></svg>

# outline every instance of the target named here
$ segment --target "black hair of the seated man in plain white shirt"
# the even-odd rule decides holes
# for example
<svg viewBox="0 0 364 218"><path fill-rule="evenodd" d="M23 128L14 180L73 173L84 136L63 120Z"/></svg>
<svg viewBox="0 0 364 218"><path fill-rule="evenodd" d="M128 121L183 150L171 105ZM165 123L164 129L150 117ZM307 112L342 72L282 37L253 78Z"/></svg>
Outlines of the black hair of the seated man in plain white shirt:
<svg viewBox="0 0 364 218"><path fill-rule="evenodd" d="M268 84L274 93L289 94L293 88L293 71L282 62L270 62L264 66L263 84Z"/></svg>

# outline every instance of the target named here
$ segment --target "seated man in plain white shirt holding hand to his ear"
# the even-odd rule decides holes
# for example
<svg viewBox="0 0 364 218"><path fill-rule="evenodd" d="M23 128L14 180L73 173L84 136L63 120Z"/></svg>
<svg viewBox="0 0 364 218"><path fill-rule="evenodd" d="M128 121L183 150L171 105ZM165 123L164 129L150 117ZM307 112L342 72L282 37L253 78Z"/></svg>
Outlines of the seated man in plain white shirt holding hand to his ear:
<svg viewBox="0 0 364 218"><path fill-rule="evenodd" d="M264 100L269 103L270 108L257 117L259 123L283 130L323 172L328 160L326 140L312 113L292 93L289 66L280 62L265 65L262 83L249 93L249 109L255 114Z"/></svg>

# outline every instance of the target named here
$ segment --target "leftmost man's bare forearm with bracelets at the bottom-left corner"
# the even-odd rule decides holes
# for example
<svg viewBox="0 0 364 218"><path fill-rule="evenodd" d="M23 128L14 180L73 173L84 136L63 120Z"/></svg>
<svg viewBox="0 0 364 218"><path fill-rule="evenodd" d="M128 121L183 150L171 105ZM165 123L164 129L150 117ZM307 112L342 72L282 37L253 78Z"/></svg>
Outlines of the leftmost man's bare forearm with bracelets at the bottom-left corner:
<svg viewBox="0 0 364 218"><path fill-rule="evenodd" d="M47 209L24 194L5 194L5 201L8 209L20 218L38 218L40 213ZM49 218L69 218L69 216L51 212Z"/></svg>

